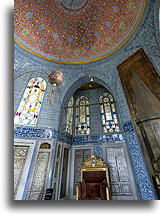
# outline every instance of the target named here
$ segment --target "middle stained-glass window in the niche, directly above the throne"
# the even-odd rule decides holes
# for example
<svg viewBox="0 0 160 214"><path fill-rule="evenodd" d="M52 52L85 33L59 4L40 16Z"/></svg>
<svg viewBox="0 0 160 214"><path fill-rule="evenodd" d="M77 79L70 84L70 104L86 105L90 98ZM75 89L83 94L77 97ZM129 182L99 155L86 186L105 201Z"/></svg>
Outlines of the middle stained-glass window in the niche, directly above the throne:
<svg viewBox="0 0 160 214"><path fill-rule="evenodd" d="M76 134L90 134L89 99L84 96L76 100Z"/></svg>

